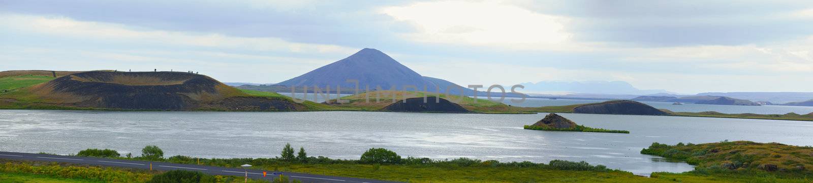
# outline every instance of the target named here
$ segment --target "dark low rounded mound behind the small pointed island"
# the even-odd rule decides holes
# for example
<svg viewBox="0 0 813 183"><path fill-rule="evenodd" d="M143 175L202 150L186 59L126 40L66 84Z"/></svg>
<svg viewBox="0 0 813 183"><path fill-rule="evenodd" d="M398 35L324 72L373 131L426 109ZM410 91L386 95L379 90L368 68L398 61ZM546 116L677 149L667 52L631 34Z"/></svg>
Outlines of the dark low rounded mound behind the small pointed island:
<svg viewBox="0 0 813 183"><path fill-rule="evenodd" d="M633 100L612 100L598 104L585 104L573 109L573 113L627 114L627 115L668 115L648 104Z"/></svg>

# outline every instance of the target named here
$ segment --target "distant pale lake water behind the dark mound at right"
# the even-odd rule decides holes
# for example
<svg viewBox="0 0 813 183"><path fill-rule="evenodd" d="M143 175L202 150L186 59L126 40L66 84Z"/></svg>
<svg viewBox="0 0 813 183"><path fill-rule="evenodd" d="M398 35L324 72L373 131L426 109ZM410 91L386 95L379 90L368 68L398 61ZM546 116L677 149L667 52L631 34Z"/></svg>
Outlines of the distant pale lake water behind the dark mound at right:
<svg viewBox="0 0 813 183"><path fill-rule="evenodd" d="M606 100L572 100L572 99L550 100L550 99L528 98L521 103L516 103L512 102L511 99L512 98L506 98L506 100L503 100L502 103L520 107L541 107L541 106L560 106L571 104L590 104L606 101ZM493 100L497 99L493 98ZM813 107L808 106L782 106L782 105L743 106L743 105L691 104L691 103L676 105L672 104L672 102L643 102L643 103L649 104L656 109L668 109L674 112L698 113L706 111L716 111L720 113L758 113L758 114L813 113Z"/></svg>

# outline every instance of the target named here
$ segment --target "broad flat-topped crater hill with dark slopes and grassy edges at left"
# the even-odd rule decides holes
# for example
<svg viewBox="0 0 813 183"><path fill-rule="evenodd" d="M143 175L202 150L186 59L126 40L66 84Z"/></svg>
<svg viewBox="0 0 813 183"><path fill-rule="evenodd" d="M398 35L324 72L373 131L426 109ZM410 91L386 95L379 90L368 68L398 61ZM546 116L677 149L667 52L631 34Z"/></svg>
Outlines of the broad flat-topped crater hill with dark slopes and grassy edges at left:
<svg viewBox="0 0 813 183"><path fill-rule="evenodd" d="M91 71L54 79L23 71L0 72L6 75L0 77L0 109L337 110L313 102L298 104L275 92L240 90L184 72Z"/></svg>

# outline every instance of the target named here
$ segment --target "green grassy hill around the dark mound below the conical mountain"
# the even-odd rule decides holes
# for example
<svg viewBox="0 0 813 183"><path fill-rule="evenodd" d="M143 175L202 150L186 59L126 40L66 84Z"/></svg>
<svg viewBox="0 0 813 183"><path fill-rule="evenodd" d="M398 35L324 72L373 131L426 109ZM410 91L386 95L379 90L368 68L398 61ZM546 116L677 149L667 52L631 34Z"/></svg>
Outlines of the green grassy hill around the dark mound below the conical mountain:
<svg viewBox="0 0 813 183"><path fill-rule="evenodd" d="M350 110L380 111L387 105L393 104L395 101L424 96L439 96L442 99L459 104L463 106L463 108L476 113L528 113L522 108L512 107L492 100L487 100L485 96L474 99L468 96L446 96L446 94L437 94L424 91L369 91L360 93L359 95L341 97L341 100L348 100L349 102L338 104L336 103L336 100L333 100L331 105Z"/></svg>

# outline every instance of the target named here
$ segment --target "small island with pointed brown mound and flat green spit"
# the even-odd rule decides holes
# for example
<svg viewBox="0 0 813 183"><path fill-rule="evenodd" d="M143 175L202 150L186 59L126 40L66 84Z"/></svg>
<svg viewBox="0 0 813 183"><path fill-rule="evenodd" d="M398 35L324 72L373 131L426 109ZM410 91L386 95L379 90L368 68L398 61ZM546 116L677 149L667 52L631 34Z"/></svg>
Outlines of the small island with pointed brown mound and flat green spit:
<svg viewBox="0 0 813 183"><path fill-rule="evenodd" d="M524 126L524 129L629 134L629 131L627 130L606 130L576 125L576 122L570 121L567 118L559 116L559 114L556 113L550 113L547 116L545 116L545 118L542 118L542 120L537 121L537 123L534 123L533 125L530 126Z"/></svg>

